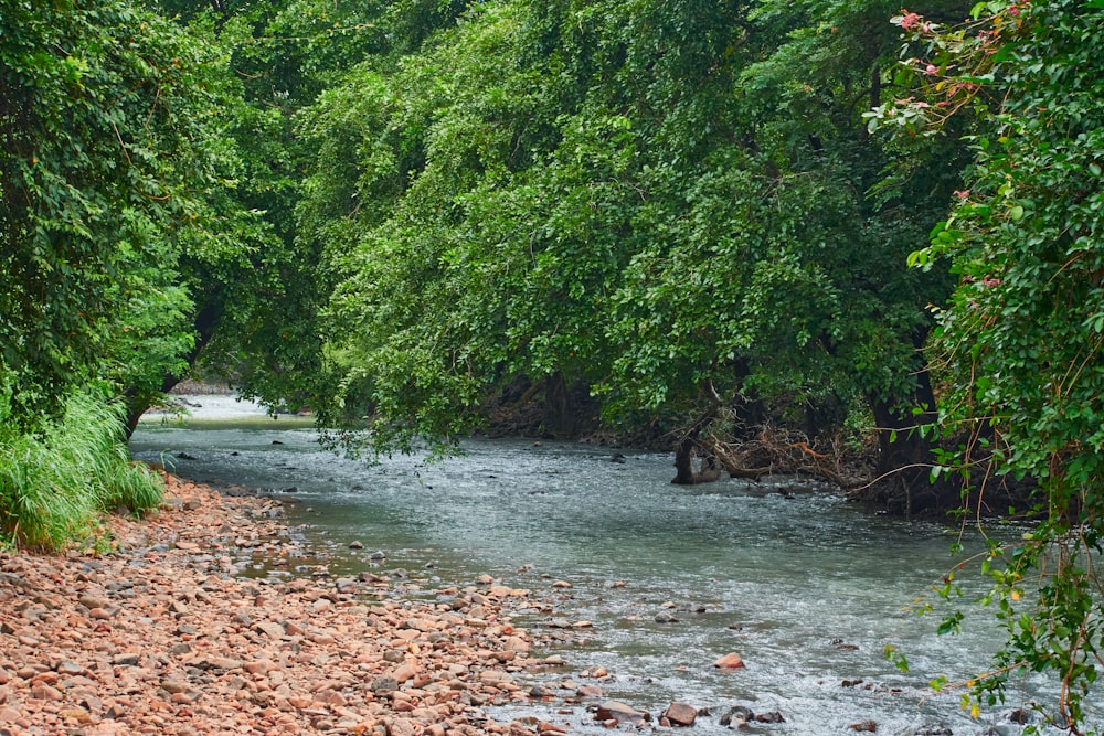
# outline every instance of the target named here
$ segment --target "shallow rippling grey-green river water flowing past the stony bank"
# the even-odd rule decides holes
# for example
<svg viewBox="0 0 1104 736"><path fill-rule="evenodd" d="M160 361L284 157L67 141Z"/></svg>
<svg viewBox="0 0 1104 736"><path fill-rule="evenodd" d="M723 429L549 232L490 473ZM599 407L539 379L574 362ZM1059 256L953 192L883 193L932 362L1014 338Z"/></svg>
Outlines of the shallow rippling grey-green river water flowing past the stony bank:
<svg viewBox="0 0 1104 736"><path fill-rule="evenodd" d="M597 684L652 715L684 701L710 713L696 734L732 733L720 725L732 705L785 718L753 734L853 734L868 722L879 734L1019 734L1013 707L1047 696L1044 684L1018 683L1016 702L973 719L958 693L926 689L936 675L985 671L1002 641L984 614L967 616L964 634L938 637L937 615L903 610L934 600L932 585L958 561L955 529L873 514L808 481L672 486L669 455L587 444L474 439L442 463L368 466L320 448L304 420L189 398L203 407L187 425L142 422L137 459L296 499L289 523L340 572L406 570L426 590L486 574L530 589L534 602L516 622L561 634L537 653L566 665L527 684ZM355 542L363 550L350 550ZM966 555L981 548L976 532L963 543ZM370 559L381 551L386 561ZM968 593L981 590L962 575ZM578 621L593 626L561 628ZM887 646L909 658L907 673L887 661ZM746 669L714 670L729 652ZM609 676L586 679L595 666ZM607 733L584 704L488 714Z"/></svg>

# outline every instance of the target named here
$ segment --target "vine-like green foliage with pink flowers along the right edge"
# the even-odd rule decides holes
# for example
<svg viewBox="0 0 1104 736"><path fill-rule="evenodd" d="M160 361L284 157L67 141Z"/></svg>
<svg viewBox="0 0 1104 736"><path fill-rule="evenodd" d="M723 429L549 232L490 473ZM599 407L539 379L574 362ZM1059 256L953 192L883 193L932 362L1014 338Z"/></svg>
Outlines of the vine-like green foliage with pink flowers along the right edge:
<svg viewBox="0 0 1104 736"><path fill-rule="evenodd" d="M997 608L1008 642L997 674L972 693L991 704L1011 673L1052 674L1059 702L1040 710L1084 733L1104 644L1095 572L1104 530L1104 3L979 3L975 19L965 29L896 19L933 56L928 96L894 116L911 116L903 127L917 132L938 132L967 106L983 117L956 206L912 260L951 263L960 279L938 316L948 362L941 422L970 440L946 465L983 493L1000 476L1030 478L1042 515L1022 542L995 544L985 563L994 588L983 602Z"/></svg>

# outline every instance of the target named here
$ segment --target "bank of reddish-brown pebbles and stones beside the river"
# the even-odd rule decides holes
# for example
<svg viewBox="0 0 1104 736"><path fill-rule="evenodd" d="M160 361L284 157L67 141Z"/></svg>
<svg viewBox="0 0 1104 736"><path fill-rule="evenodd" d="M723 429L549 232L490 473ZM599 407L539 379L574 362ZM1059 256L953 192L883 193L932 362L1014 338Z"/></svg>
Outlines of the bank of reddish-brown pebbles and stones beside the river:
<svg viewBox="0 0 1104 736"><path fill-rule="evenodd" d="M392 597L360 578L251 579L295 556L270 499L168 478L162 508L100 547L0 555L0 735L555 734L500 724L542 664L492 580Z"/></svg>

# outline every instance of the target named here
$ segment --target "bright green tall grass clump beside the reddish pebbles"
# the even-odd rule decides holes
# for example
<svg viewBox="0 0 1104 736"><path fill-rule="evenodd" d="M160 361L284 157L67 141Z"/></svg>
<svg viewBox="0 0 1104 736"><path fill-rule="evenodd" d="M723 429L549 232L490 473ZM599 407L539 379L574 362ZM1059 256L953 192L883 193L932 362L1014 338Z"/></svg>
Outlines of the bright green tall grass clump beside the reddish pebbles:
<svg viewBox="0 0 1104 736"><path fill-rule="evenodd" d="M94 534L105 510L161 502L161 478L130 462L124 412L96 393L76 394L41 433L0 427L0 532L9 543L62 550Z"/></svg>

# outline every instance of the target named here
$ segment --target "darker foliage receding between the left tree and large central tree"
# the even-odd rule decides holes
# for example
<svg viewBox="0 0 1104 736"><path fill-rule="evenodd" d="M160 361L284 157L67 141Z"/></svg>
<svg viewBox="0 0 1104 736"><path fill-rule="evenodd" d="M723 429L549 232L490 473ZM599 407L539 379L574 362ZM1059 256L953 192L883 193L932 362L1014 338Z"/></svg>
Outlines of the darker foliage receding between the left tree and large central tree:
<svg viewBox="0 0 1104 736"><path fill-rule="evenodd" d="M240 98L225 111L242 161L235 199L264 225L250 231L247 258L195 269L201 340L192 358L200 371L229 377L242 395L269 406L325 407L336 387L318 313L332 278L321 264L323 238L299 234L295 211L318 150L295 132L295 119L350 67L389 67L395 49L416 47L463 3L273 0L200 12L173 0L158 6L224 49L241 79Z"/></svg>

